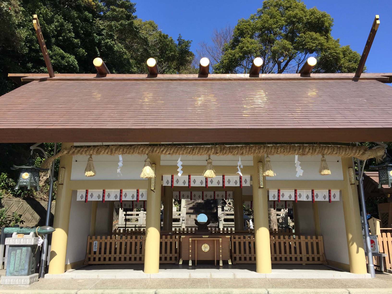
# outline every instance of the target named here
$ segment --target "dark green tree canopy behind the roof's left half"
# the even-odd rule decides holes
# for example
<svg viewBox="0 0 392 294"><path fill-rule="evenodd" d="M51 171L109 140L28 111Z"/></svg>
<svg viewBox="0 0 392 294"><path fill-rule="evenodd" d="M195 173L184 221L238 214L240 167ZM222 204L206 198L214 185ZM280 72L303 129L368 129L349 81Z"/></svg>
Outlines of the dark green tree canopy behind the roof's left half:
<svg viewBox="0 0 392 294"><path fill-rule="evenodd" d="M129 0L4 0L0 2L0 95L15 87L8 73L46 73L32 24L38 15L55 73L96 73L101 57L111 73L147 73L154 57L160 73L189 73L191 40L177 42L152 20L135 15Z"/></svg>

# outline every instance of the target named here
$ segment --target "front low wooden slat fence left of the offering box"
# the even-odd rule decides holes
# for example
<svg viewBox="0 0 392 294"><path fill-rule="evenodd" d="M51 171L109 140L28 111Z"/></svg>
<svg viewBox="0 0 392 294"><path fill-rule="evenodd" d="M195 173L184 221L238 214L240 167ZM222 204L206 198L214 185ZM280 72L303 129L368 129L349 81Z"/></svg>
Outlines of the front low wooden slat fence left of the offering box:
<svg viewBox="0 0 392 294"><path fill-rule="evenodd" d="M178 262L179 240L179 236L161 236L160 263ZM144 244L144 235L89 236L84 264L144 263Z"/></svg>

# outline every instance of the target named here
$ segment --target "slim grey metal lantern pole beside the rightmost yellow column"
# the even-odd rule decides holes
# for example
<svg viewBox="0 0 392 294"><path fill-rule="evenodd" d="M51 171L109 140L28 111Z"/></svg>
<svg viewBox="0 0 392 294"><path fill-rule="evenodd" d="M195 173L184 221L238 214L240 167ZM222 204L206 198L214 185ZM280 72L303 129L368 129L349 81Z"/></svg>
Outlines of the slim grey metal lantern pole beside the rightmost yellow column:
<svg viewBox="0 0 392 294"><path fill-rule="evenodd" d="M370 246L370 235L369 235L369 224L366 217L366 204L365 204L365 192L363 191L363 171L365 169L366 160L363 161L363 166L361 168L361 161L357 158L358 163L358 184L359 184L359 194L361 195L361 207L363 216L363 230L365 231L365 243L366 243L366 254L368 258L368 272L372 278L376 277L376 272L374 271L373 264L373 253L372 247Z"/></svg>

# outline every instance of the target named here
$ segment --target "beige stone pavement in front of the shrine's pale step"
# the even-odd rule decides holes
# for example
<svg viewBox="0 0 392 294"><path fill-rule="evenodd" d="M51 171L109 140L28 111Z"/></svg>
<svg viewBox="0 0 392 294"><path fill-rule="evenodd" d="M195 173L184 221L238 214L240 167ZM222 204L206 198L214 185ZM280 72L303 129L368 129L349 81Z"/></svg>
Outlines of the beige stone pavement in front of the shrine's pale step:
<svg viewBox="0 0 392 294"><path fill-rule="evenodd" d="M1 273L1 272L0 272ZM40 279L29 286L0 285L0 294L392 294L392 275L374 279L134 278Z"/></svg>

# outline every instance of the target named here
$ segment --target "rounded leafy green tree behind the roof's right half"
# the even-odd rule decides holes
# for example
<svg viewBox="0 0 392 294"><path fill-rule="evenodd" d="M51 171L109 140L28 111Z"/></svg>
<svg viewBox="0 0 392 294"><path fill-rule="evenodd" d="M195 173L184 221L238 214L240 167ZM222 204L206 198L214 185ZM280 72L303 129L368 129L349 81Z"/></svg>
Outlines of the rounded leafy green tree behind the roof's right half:
<svg viewBox="0 0 392 294"><path fill-rule="evenodd" d="M264 60L261 73L298 73L309 56L319 60L317 72L354 72L360 56L332 38L332 25L328 13L301 0L266 0L238 21L214 72L249 72L257 56Z"/></svg>

